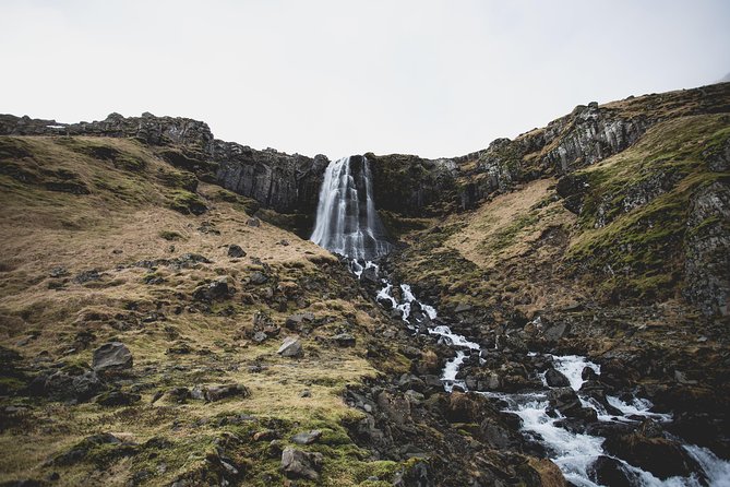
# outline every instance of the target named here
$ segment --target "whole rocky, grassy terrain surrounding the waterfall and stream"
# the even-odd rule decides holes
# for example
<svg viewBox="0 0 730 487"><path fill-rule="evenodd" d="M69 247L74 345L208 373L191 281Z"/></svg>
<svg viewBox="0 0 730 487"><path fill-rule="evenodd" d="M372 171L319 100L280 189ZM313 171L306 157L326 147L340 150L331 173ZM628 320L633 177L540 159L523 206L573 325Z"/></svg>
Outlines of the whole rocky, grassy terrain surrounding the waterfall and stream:
<svg viewBox="0 0 730 487"><path fill-rule="evenodd" d="M540 375L566 428L658 478L698 472L680 440L730 458L730 84L366 157L395 250L358 278L307 240L324 156L0 116L0 485L564 486L493 395ZM383 277L490 351L470 392ZM673 420L597 431L548 354ZM591 478L631 485L611 459Z"/></svg>

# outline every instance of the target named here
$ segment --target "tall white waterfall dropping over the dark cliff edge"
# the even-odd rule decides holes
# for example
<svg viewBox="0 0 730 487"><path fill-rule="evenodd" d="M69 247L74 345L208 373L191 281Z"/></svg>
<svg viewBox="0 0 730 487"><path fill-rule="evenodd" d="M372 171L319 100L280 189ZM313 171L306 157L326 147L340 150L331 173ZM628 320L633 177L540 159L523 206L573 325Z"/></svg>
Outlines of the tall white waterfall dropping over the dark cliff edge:
<svg viewBox="0 0 730 487"><path fill-rule="evenodd" d="M391 250L372 199L370 164L364 156L333 161L324 173L310 239L349 259L372 260Z"/></svg>

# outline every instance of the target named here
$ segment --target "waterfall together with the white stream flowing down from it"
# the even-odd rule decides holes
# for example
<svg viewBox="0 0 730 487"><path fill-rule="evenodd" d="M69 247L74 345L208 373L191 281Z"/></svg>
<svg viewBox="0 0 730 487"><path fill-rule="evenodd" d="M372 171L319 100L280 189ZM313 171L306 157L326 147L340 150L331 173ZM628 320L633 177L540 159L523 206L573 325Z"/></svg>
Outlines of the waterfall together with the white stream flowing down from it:
<svg viewBox="0 0 730 487"><path fill-rule="evenodd" d="M372 260L392 249L375 212L372 194L367 158L351 156L332 162L326 168L320 191L316 223L311 237L312 241L321 247L350 259L350 269L358 278L370 268L374 268L378 273L378 265ZM387 304L397 310L404 324L414 333L426 325L430 335L454 348L455 356L446 361L441 376L444 390L452 392L458 388L467 391L465 381L457 379L458 372L469 355L479 354L481 357L480 345L452 332L447 325L440 324L438 320L434 321L438 316L436 309L420 302L409 285L400 284L399 299L396 299L393 284L386 280L382 280L382 283L383 287L375 297L379 302ZM414 316L414 308L421 312ZM584 369L587 367L596 375L600 375L598 365L575 355L553 356L552 360L554 368L567 378L570 388L577 393L582 405L596 411L598 421L638 424L644 418L659 423L672 420L671 415L651 412L651 403L639 397L632 397L625 402L625 397L622 401L619 397L607 396L606 400L612 408L609 414L603 405L579 392L584 383ZM480 358L480 364L482 361ZM718 459L709 450L697 446L683 444L683 448L702 467L704 478L692 475L660 479L649 472L607 454L602 448L605 441L602 437L574 432L561 426L560 420L564 417L560 412L551 411L548 399L551 388L544 376L541 376L541 379L543 388L536 391L475 392L499 401L505 405L504 411L518 415L522 419L522 430L542 443L549 458L561 468L572 485L597 487L599 484L591 475L590 467L597 459L609 458L619 463L624 477L634 486L730 486L730 462Z"/></svg>

